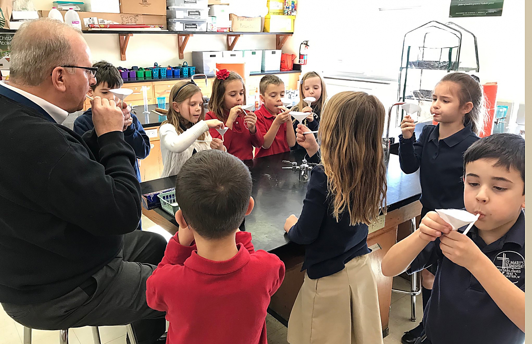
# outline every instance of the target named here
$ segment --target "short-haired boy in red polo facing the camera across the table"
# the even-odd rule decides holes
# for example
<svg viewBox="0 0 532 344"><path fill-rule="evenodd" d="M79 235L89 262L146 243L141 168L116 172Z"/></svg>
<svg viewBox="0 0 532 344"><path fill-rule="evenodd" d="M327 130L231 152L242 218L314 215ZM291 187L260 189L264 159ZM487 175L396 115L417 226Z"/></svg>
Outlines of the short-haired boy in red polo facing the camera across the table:
<svg viewBox="0 0 532 344"><path fill-rule="evenodd" d="M296 134L292 127L290 110L282 106L285 96L285 83L276 75L264 75L261 79L261 108L255 111L257 127L264 135L264 144L255 157L285 153L296 144Z"/></svg>

